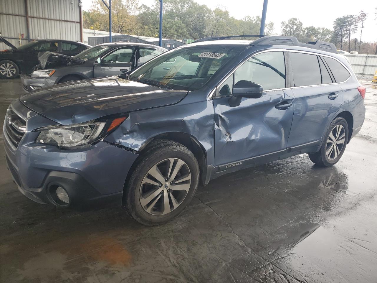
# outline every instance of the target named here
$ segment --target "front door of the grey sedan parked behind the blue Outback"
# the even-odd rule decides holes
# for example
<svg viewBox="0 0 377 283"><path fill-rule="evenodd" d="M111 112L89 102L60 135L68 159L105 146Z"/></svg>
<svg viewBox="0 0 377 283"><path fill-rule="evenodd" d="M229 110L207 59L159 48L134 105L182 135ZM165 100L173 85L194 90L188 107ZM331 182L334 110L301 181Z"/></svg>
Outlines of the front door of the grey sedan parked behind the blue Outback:
<svg viewBox="0 0 377 283"><path fill-rule="evenodd" d="M135 47L116 49L101 59L101 63L95 62L93 66L93 78L120 75L131 69L135 56Z"/></svg>

